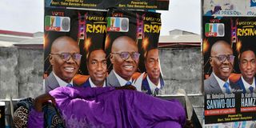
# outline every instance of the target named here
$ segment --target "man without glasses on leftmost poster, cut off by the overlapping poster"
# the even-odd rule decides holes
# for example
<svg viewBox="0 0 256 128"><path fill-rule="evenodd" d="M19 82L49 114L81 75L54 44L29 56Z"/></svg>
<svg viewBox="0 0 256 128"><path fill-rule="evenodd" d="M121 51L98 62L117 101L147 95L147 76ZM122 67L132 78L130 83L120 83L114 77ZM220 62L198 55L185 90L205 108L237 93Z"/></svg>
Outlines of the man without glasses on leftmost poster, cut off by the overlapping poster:
<svg viewBox="0 0 256 128"><path fill-rule="evenodd" d="M104 50L93 50L86 57L87 70L90 78L82 84L83 87L106 86L106 54Z"/></svg>

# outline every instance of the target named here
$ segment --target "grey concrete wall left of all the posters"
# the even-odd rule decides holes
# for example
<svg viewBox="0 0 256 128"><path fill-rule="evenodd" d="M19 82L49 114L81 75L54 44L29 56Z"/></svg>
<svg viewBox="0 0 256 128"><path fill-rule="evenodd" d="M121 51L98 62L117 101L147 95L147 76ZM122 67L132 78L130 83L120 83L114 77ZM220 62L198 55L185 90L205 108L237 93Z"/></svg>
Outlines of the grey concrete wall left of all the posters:
<svg viewBox="0 0 256 128"><path fill-rule="evenodd" d="M43 50L0 47L0 99L42 94Z"/></svg>

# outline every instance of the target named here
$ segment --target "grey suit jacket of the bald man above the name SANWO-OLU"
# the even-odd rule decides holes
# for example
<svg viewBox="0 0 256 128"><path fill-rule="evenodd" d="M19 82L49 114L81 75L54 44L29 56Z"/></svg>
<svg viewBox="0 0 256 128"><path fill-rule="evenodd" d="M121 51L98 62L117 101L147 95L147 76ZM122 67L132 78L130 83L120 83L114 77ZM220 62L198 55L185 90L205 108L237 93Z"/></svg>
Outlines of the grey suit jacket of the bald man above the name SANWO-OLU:
<svg viewBox="0 0 256 128"><path fill-rule="evenodd" d="M240 86L236 85L234 82L230 82L231 93L241 92ZM210 78L207 78L204 81L204 90L205 94L222 94L222 89L218 85L217 79L214 77L214 74L210 74Z"/></svg>

